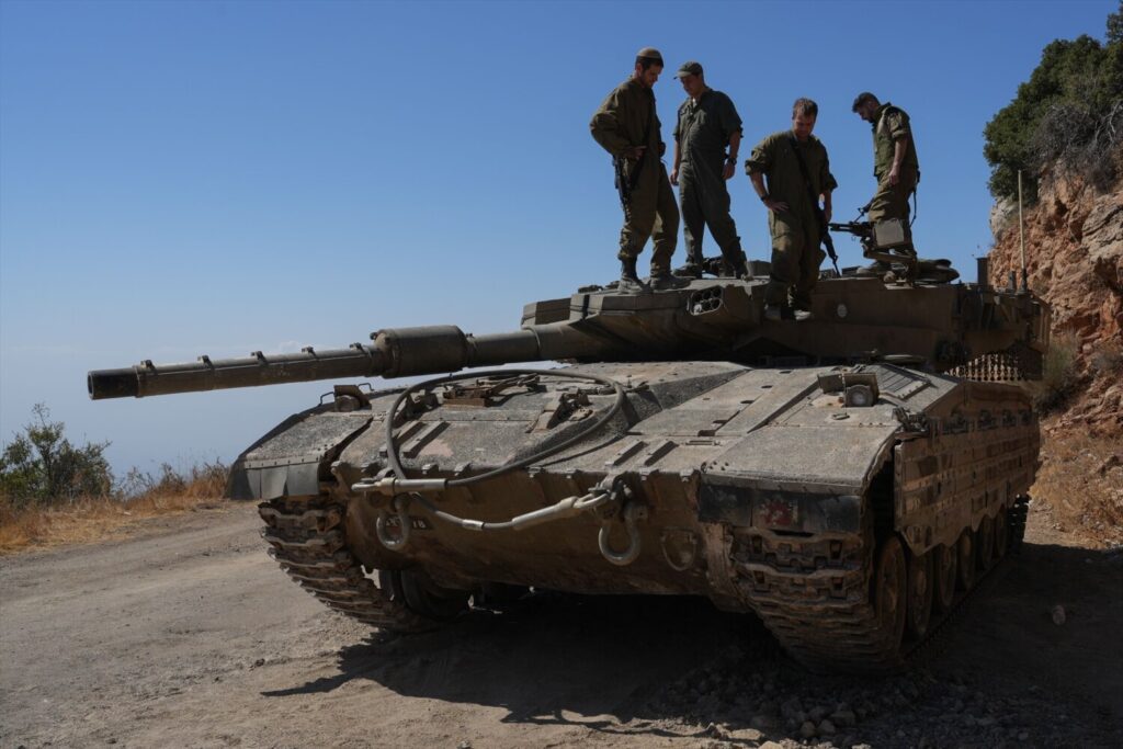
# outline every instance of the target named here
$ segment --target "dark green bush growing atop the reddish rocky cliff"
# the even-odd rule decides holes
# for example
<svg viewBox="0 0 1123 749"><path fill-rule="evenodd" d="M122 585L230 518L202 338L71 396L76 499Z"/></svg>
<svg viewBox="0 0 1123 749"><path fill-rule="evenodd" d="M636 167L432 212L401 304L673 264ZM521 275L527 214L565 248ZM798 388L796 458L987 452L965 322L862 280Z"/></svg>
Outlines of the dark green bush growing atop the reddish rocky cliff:
<svg viewBox="0 0 1123 749"><path fill-rule="evenodd" d="M1054 40L1041 53L1017 97L984 129L990 193L1017 198L1023 172L1028 202L1037 200L1046 167L1099 188L1119 179L1123 147L1123 1L1107 18L1106 44L1085 35Z"/></svg>

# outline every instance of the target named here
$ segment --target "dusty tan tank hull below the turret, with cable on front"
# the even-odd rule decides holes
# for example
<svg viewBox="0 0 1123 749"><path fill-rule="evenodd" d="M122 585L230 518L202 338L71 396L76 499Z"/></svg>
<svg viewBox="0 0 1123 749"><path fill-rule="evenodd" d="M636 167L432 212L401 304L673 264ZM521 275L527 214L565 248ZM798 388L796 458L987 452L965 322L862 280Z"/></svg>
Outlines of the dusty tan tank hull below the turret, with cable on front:
<svg viewBox="0 0 1123 749"><path fill-rule="evenodd" d="M622 408L596 430L614 395L577 374L621 384ZM840 375L874 398L849 402ZM267 538L298 582L378 627L431 625L496 584L704 595L760 615L809 666L884 670L924 636L898 631L903 605L885 610L900 593L878 583L896 564L880 558L887 545L907 573L973 533L993 538L1037 468L1038 424L1020 389L887 364L608 363L492 395L489 385L436 389L409 413L389 415L399 392L385 391L298 414L239 458L231 495L264 502ZM410 502L371 490L394 473L387 418L404 473L449 484L573 444ZM473 530L431 511L502 523L597 492L602 505L522 530ZM380 570L381 586L364 570Z"/></svg>

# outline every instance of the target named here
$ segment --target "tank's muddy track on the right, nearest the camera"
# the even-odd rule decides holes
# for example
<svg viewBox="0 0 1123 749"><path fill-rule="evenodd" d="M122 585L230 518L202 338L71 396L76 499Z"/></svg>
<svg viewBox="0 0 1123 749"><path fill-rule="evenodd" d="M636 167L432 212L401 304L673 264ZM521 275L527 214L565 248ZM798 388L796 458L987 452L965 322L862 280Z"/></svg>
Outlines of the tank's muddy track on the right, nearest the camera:
<svg viewBox="0 0 1123 749"><path fill-rule="evenodd" d="M886 674L931 657L947 625L979 590L1016 554L1025 535L1026 497L1010 508L1010 544L969 591L960 591L951 609L932 612L924 638L894 642L871 603L873 533L861 539L804 539L742 536L733 540L737 585L752 602L784 649L813 670ZM840 584L841 581L841 584Z"/></svg>

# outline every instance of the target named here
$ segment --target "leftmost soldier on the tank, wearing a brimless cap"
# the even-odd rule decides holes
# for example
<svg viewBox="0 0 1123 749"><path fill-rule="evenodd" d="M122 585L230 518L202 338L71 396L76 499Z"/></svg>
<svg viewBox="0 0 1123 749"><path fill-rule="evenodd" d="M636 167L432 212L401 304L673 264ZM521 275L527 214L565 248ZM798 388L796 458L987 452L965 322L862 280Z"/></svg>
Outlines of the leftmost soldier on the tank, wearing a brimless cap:
<svg viewBox="0 0 1123 749"><path fill-rule="evenodd" d="M612 154L617 189L624 209L620 230L621 291L643 291L636 274L636 258L650 237L651 287L677 289L688 282L670 274L670 258L678 237L678 207L659 159L666 146L651 88L663 72L663 55L645 47L636 55L631 77L608 95L588 124L593 138Z"/></svg>

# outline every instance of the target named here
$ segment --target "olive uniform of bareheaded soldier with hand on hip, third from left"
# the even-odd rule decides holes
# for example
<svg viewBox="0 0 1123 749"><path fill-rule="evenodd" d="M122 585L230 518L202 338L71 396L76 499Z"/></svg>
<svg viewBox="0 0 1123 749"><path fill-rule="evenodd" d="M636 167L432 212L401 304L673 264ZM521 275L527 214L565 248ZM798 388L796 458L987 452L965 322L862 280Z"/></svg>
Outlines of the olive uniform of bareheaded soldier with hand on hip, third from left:
<svg viewBox="0 0 1123 749"><path fill-rule="evenodd" d="M819 248L822 240L819 221L800 171L794 143L795 134L791 130L772 134L752 149L745 162L745 171L763 174L768 197L787 203L786 211L768 212L773 252L765 304L787 304L788 290L794 286L792 305L807 310L811 309L811 290L819 280L819 264L827 255ZM798 147L807 165L812 192L818 198L833 191L838 182L831 175L823 144L812 135Z"/></svg>

